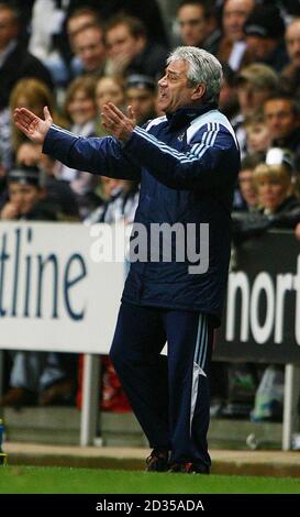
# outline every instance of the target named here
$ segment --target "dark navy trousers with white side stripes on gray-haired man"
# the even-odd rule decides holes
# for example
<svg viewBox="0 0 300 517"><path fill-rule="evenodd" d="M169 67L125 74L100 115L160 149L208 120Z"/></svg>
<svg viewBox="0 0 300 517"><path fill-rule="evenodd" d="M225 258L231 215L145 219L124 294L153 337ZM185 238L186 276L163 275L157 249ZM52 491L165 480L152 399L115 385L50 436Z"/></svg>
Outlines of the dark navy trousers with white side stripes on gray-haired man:
<svg viewBox="0 0 300 517"><path fill-rule="evenodd" d="M149 446L170 450L171 464L210 465L212 340L198 311L121 305L110 356Z"/></svg>

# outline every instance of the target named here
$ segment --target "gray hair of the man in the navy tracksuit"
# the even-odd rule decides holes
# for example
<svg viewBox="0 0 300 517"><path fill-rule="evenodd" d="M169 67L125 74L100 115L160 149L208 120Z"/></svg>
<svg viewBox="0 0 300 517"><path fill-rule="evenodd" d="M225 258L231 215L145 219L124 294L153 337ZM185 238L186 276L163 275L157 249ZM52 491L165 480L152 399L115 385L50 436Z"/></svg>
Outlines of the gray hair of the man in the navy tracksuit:
<svg viewBox="0 0 300 517"><path fill-rule="evenodd" d="M223 79L221 63L209 52L196 46L178 46L169 54L167 65L182 59L188 63L188 81L190 86L202 82L205 94L202 98L205 102L218 102Z"/></svg>

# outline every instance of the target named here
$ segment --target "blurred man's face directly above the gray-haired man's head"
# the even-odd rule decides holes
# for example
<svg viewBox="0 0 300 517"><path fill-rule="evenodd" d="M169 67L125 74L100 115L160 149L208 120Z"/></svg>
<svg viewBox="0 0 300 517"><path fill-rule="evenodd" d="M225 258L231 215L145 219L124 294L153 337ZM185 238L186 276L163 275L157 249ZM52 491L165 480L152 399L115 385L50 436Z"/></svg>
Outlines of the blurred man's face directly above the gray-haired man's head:
<svg viewBox="0 0 300 517"><path fill-rule="evenodd" d="M184 45L200 46L207 37L207 23L201 6L182 6L177 15Z"/></svg>

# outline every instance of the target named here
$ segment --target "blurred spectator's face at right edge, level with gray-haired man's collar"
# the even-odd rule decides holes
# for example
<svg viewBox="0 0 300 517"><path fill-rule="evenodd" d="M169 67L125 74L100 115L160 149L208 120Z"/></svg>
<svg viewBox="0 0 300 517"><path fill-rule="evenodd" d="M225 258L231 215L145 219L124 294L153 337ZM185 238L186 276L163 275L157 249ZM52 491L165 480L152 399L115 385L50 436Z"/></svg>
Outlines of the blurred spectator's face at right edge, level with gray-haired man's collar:
<svg viewBox="0 0 300 517"><path fill-rule="evenodd" d="M286 139L299 127L298 117L288 99L267 100L264 114L271 140Z"/></svg>

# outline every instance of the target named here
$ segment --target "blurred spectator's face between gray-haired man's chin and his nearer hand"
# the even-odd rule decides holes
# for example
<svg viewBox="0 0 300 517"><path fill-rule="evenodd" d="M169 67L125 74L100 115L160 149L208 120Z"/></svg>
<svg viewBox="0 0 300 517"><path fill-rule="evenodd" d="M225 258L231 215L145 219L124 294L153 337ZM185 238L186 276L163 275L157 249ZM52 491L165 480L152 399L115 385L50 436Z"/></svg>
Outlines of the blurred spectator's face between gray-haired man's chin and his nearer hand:
<svg viewBox="0 0 300 517"><path fill-rule="evenodd" d="M132 106L136 123L141 124L153 118L155 113L156 95L147 88L127 88L126 103Z"/></svg>

